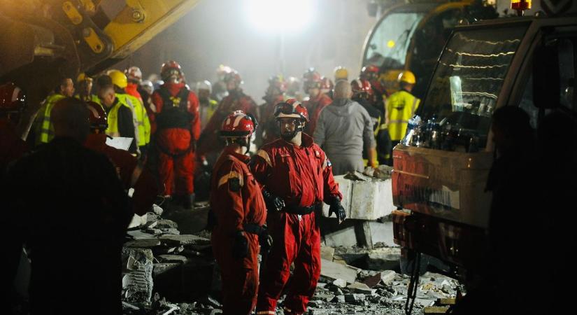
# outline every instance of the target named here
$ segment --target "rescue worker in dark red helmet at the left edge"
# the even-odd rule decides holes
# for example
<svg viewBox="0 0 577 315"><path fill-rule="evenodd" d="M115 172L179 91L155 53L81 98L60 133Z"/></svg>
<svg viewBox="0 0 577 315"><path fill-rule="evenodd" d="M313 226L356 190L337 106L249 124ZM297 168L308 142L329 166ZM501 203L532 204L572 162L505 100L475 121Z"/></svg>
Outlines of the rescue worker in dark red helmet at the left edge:
<svg viewBox="0 0 577 315"><path fill-rule="evenodd" d="M26 95L14 83L0 85L0 179L10 162L20 158L28 147L17 132Z"/></svg>

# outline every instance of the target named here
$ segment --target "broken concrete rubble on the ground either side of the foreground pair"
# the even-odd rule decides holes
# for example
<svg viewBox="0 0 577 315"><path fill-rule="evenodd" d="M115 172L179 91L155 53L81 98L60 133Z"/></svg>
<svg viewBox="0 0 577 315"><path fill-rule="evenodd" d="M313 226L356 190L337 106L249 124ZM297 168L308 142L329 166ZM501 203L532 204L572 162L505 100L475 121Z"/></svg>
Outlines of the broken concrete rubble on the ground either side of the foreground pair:
<svg viewBox="0 0 577 315"><path fill-rule="evenodd" d="M166 212L149 213L146 223L128 233L122 250L124 314L222 313L210 233L183 233ZM398 273L400 248L390 243L379 241L371 249L323 242L321 277L308 314L404 314L409 277ZM458 286L441 274L420 276L413 314L455 297ZM283 298L276 314L283 314Z"/></svg>

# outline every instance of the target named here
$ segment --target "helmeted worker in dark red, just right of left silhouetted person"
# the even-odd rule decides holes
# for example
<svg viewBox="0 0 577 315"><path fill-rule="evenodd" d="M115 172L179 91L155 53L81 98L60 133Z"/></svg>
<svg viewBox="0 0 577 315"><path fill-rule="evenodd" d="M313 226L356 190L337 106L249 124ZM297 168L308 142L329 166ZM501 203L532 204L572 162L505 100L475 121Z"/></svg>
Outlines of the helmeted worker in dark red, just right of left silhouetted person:
<svg viewBox="0 0 577 315"><path fill-rule="evenodd" d="M128 151L113 148L106 144L107 136L105 132L106 128L108 128L106 112L102 109L102 106L95 102L87 102L86 105L88 108L88 121L90 122L90 134L88 134L84 146L106 155L111 160L116 167L116 172L118 172L124 189L134 188L131 199L134 214L143 216L152 209L152 204L159 193L156 179L152 176L150 170L143 167L141 162Z"/></svg>

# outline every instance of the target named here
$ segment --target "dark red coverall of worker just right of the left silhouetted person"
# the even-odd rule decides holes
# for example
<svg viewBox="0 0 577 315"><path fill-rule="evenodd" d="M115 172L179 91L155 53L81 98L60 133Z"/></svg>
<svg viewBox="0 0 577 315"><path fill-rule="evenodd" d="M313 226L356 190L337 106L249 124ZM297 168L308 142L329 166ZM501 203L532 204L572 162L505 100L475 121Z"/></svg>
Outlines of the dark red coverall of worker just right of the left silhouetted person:
<svg viewBox="0 0 577 315"><path fill-rule="evenodd" d="M116 168L124 188L134 188L132 209L135 214L143 216L152 209L158 194L157 182L148 169L138 165L138 159L128 151L108 146L106 134L88 134L84 146L106 155Z"/></svg>

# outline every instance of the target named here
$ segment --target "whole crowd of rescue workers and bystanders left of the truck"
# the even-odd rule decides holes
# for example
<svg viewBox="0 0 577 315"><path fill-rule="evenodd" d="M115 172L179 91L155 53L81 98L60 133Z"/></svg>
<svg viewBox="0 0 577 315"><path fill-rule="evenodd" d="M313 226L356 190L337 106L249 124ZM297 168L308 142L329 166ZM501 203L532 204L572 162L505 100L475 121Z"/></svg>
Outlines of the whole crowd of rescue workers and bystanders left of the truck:
<svg viewBox="0 0 577 315"><path fill-rule="evenodd" d="M306 95L298 78L272 76L257 105L227 66L214 84L194 88L174 61L162 65L157 82L143 80L136 66L80 73L76 84L57 84L25 140L15 125L26 94L1 85L1 185L10 209L3 274L12 279L31 260L35 314L66 314L57 302L64 292L69 309L99 300L87 313L120 314L120 250L132 216L150 211L157 196L165 208L192 209L194 175L209 170L197 190L210 190L225 314L255 307L275 314L284 290L285 314L303 314L320 276L322 203L339 223L346 219L333 176L390 163L395 135L418 106L410 71L399 76L399 95L386 95L376 66L352 82L343 67L334 75L333 83L308 69ZM54 255L78 263L63 265ZM78 283L90 288L74 290Z"/></svg>

